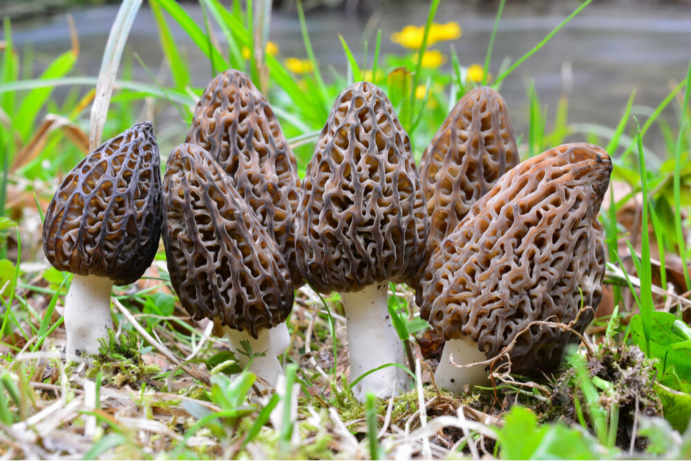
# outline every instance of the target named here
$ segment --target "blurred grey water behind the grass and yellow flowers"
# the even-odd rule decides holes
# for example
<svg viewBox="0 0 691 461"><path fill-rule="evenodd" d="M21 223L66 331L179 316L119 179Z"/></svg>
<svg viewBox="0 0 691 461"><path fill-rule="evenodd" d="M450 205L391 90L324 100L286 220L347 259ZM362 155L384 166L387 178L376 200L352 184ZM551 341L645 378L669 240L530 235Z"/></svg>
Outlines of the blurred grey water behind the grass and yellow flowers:
<svg viewBox="0 0 691 461"><path fill-rule="evenodd" d="M186 4L184 7L201 23L202 12L198 6ZM372 50L379 28L382 30L382 52L406 53L390 41L391 32L409 23L422 24L427 8L426 3L385 3L383 9L365 16L336 10L308 13L307 28L323 75L327 78L330 75L328 66L341 72L345 70L346 60L338 34L343 35L359 62L362 62L360 44L368 39ZM463 29L462 37L453 42L462 64L484 62L495 19L494 8L465 5L461 1L446 1L439 7L437 22L457 21ZM491 71L496 74L505 57L515 61L522 56L574 8L573 2L509 3L496 37ZM97 75L116 12L117 6L98 6L72 13L81 46L77 73ZM191 68L198 71L193 83L205 86L211 78L207 59L172 22L180 48L187 53ZM39 59L36 73L48 62L46 56L55 57L70 47L65 15L17 22L13 35L19 46L33 44ZM218 37L223 35L219 33ZM270 39L279 45L283 57L305 56L299 21L294 14L273 12ZM434 48L448 53L448 46L446 42ZM131 59L135 79L151 82L146 70L132 58L133 53L138 53L154 74L162 64L158 30L146 7L140 10L134 23L124 59ZM41 55L46 57L44 62L40 62ZM690 58L691 8L688 6L660 6L643 1L594 3L504 80L501 93L517 133L527 132L527 88L531 78L535 80L540 101L549 107L548 129L558 99L564 92L569 94L570 123L614 128L631 91L637 88L634 114L638 114L643 123L650 108L659 104L671 86L683 79ZM676 126L674 111L665 112L665 116ZM171 117L177 117L177 122L168 129L159 130L163 137L166 132L179 133L180 117L174 109L171 109ZM524 139L527 139L525 135ZM663 152L659 132L651 131L645 144L654 153Z"/></svg>

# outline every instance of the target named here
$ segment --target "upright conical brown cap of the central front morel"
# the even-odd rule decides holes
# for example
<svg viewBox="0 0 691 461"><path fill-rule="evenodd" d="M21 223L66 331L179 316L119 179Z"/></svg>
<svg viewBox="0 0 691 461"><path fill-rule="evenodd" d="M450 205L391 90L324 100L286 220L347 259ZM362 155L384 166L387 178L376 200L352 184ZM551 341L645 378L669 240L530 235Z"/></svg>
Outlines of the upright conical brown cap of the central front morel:
<svg viewBox="0 0 691 461"><path fill-rule="evenodd" d="M307 164L296 218L300 270L315 290L403 282L429 231L410 139L388 97L359 82L339 95Z"/></svg>

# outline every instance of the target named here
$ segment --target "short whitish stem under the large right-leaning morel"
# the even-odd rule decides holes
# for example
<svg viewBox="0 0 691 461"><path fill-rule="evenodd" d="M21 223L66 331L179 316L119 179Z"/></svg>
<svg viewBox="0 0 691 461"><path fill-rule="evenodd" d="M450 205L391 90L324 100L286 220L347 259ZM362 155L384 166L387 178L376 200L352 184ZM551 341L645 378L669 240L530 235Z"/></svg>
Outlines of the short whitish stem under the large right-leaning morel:
<svg viewBox="0 0 691 461"><path fill-rule="evenodd" d="M489 377L485 370L486 365L468 366L459 368L451 363L457 365L476 364L477 362L486 361L484 352L477 348L477 343L467 336L461 339L449 339L444 344L442 351L442 359L439 360L439 366L434 374L435 383L439 387L445 388L447 391L460 394L463 387L466 386L481 386L489 383Z"/></svg>

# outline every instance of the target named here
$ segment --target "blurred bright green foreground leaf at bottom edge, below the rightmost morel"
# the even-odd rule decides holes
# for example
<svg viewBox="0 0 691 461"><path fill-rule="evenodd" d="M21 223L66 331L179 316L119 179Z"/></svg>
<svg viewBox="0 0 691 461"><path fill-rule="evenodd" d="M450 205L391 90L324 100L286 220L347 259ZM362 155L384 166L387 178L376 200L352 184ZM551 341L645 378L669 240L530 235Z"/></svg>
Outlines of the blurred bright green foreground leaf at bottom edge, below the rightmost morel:
<svg viewBox="0 0 691 461"><path fill-rule="evenodd" d="M599 458L590 435L565 424L542 424L528 408L514 406L498 431L504 460L591 460Z"/></svg>

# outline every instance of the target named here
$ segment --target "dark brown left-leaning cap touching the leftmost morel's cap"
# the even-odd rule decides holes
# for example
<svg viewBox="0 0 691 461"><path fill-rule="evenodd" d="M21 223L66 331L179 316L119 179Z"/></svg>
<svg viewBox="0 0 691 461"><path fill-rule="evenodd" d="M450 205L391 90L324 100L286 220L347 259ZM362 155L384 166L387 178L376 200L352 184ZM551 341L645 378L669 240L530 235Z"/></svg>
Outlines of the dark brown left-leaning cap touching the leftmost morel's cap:
<svg viewBox="0 0 691 461"><path fill-rule="evenodd" d="M247 328L255 339L285 321L294 293L283 256L207 151L173 148L163 209L171 285L194 319Z"/></svg>

